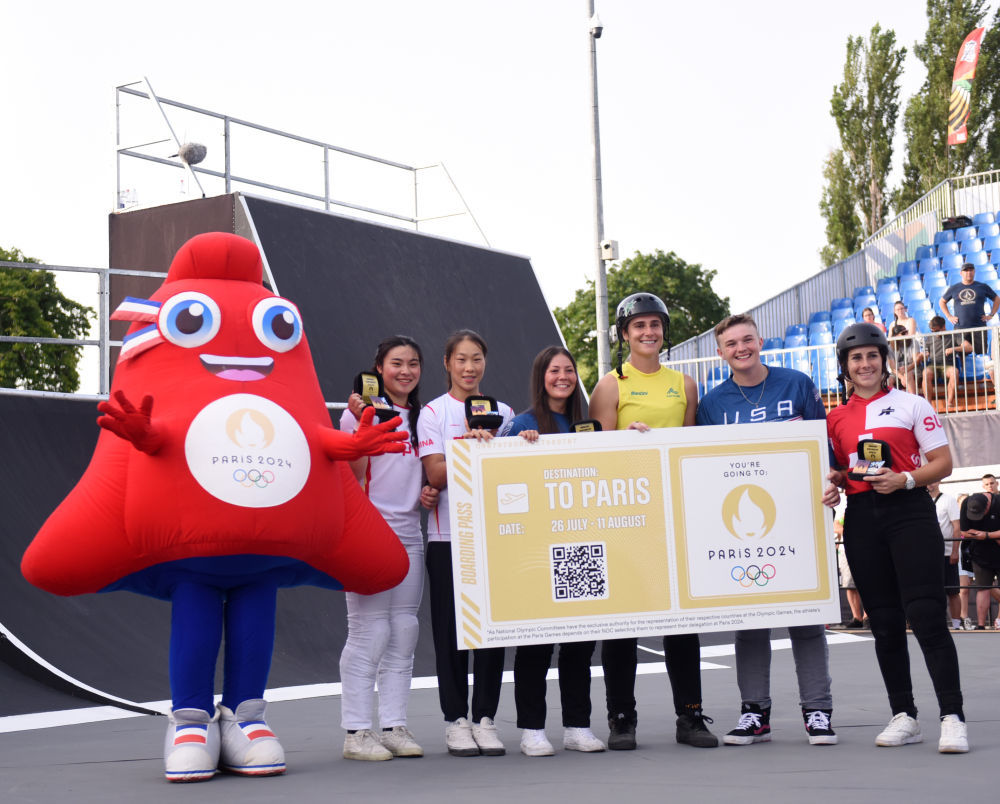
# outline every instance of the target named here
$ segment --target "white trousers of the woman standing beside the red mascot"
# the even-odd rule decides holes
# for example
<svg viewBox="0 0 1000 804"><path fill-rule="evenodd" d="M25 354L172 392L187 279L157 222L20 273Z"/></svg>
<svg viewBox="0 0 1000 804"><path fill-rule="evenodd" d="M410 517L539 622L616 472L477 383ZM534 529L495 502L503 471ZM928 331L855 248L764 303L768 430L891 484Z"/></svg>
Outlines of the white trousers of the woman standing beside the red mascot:
<svg viewBox="0 0 1000 804"><path fill-rule="evenodd" d="M424 548L404 545L410 571L399 586L375 595L347 592L347 642L340 654L341 726L372 728L378 678L382 728L406 725L406 703L417 647L417 610L424 591Z"/></svg>

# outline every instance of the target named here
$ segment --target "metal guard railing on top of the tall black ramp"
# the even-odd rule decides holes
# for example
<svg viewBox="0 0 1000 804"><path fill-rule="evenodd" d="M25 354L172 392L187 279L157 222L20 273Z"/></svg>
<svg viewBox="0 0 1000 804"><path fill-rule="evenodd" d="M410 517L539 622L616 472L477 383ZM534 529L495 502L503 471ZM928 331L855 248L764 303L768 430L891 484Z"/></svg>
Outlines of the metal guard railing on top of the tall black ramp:
<svg viewBox="0 0 1000 804"><path fill-rule="evenodd" d="M134 88L136 85L141 85L143 89ZM132 145L123 145L122 143L122 96L136 97L149 101L153 104L157 110L159 117L162 118L163 126L166 129L166 133L169 137L166 139L158 139L150 142L136 143ZM222 125L222 170L215 170L208 168L200 164L190 165L187 162L176 158L180 153L182 142L177 137L174 127L167 116L166 108L170 107L173 109L180 109L185 112L189 112L198 117L209 118L212 121L217 121ZM233 171L233 135L238 132L258 132L260 134L280 138L280 141L285 143L297 143L305 145L309 148L315 148L318 151L318 156L321 157L318 160L322 165L322 182L323 182L323 193L309 192L301 188L289 187L287 185L275 184L271 182L261 181L259 178L253 178L248 175L242 175L234 173ZM176 149L178 154L174 154L173 157L165 158L163 156L156 156L155 154L147 153L142 149L149 148L151 146L163 145L165 143L170 143L171 147ZM354 151L350 148L344 148L339 145L334 145L329 142L324 142L322 140L313 139L311 137L303 137L298 134L292 134L287 131L281 131L270 126L260 125L259 123L253 123L249 120L242 120L238 117L233 117L231 115L223 114L220 112L215 112L210 109L202 109L197 106L192 106L191 104L182 103L180 101L171 100L169 98L164 98L158 96L149 83L148 78L143 78L141 81L135 81L131 84L123 84L121 86L115 87L115 166L116 166L116 197L115 197L115 207L117 209L124 209L124 198L126 193L122 189L122 157L129 157L132 159L139 159L145 162L151 162L158 165L163 165L166 167L172 167L180 170L185 170L189 174L192 183L198 188L198 191L202 197L205 196L205 191L201 186L199 181L199 176L209 176L215 179L221 179L223 182L223 188L225 193L230 193L233 191L233 185L243 185L247 187L256 187L263 190L269 190L272 192L280 193L282 195L292 196L294 198L304 199L307 201L312 201L316 203L321 203L323 209L329 211L331 207L340 207L343 209L352 210L354 212L364 213L366 215L375 216L377 218L388 218L394 222L401 222L406 224L412 224L414 229L420 230L420 225L429 221L437 221L443 218L453 218L462 215L468 216L469 220L472 222L479 237L482 238L483 243L487 246L490 245L486 234L483 232L482 227L476 220L475 215L472 214L472 210L466 203L465 198L459 191L458 186L455 184L445 167L444 163L438 162L432 165L424 165L421 167L416 167L413 165L403 164L402 162L395 162L390 159L384 159L379 156L374 156L372 154L362 153L360 151ZM401 172L405 177L406 181L411 185L411 191L409 193L409 198L406 201L406 206L410 208L410 212L401 212L399 210L388 210L379 209L367 204L358 203L356 201L349 201L346 198L337 198L333 195L333 181L331 179L331 169L333 166L332 160L334 158L343 158L344 160L351 161L355 164L360 163L370 166L380 166L383 168L388 168L392 171ZM446 186L450 187L450 192L457 199L461 209L458 211L445 211L440 214L422 214L421 213L421 196L420 196L420 183L421 177L425 176L429 171L438 171L441 180L446 182ZM315 178L315 177L314 177Z"/></svg>

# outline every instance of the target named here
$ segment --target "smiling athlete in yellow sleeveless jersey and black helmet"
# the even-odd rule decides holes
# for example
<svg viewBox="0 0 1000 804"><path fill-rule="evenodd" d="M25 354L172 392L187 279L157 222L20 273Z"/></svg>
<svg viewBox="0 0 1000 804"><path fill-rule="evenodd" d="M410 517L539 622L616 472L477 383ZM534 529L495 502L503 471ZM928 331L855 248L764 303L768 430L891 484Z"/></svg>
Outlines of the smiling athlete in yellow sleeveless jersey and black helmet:
<svg viewBox="0 0 1000 804"><path fill-rule="evenodd" d="M690 427L698 407L693 379L660 364L664 333L670 316L663 302L651 293L634 293L623 299L615 315L618 360L615 371L602 377L590 399L590 415L605 430L639 430L651 427ZM622 365L622 345L629 347ZM605 640L601 645L604 683L607 688L608 748L635 748L635 639ZM663 638L663 653L677 713L677 742L714 748L718 738L705 725L712 719L701 710L701 646L697 634Z"/></svg>

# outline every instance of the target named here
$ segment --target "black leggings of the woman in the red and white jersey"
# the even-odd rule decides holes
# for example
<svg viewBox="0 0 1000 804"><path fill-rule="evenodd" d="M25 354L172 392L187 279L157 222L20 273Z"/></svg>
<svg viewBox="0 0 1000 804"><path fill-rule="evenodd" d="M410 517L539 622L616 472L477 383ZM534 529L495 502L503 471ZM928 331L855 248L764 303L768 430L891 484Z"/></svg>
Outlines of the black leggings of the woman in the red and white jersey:
<svg viewBox="0 0 1000 804"><path fill-rule="evenodd" d="M849 495L844 549L871 620L875 655L892 713L916 716L917 711L906 644L909 621L924 654L941 716L963 717L958 653L945 620L944 542L927 490Z"/></svg>

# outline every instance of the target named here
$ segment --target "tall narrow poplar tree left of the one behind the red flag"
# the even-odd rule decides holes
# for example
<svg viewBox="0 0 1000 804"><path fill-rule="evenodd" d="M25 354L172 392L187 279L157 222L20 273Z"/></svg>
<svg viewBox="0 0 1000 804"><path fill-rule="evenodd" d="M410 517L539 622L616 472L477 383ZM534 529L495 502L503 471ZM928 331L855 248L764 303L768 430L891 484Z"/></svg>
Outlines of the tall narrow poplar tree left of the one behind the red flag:
<svg viewBox="0 0 1000 804"><path fill-rule="evenodd" d="M847 38L844 78L830 99L841 149L827 160L827 186L820 201L827 233L827 246L820 253L824 259L835 257L827 265L853 254L885 223L905 58L906 48L896 47L896 34L883 31L878 23L867 39Z"/></svg>

